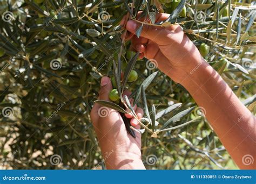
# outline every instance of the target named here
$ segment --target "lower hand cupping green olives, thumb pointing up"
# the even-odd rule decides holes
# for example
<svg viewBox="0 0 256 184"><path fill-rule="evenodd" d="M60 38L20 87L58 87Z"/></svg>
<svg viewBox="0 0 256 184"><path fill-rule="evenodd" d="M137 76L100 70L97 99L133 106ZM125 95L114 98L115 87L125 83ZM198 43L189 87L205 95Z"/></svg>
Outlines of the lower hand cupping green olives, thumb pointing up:
<svg viewBox="0 0 256 184"><path fill-rule="evenodd" d="M109 77L102 77L100 86L99 100L110 101L109 92L112 90L112 84ZM130 94L129 91L124 92L124 95L129 96ZM138 119L143 117L141 108L135 105L134 111ZM96 103L90 115L107 169L145 169L140 152L141 135L134 132L136 138L133 138L127 133L124 121L118 111ZM131 118L131 125L134 128L140 128L139 122L130 114L125 114L125 116ZM107 158L104 157L105 155L108 155Z"/></svg>

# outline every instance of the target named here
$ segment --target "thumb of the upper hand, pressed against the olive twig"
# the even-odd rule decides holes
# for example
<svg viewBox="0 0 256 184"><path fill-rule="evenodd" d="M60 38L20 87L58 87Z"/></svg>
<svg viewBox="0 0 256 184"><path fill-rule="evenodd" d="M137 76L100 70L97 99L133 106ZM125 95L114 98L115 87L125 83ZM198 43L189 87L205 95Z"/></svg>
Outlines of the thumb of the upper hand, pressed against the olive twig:
<svg viewBox="0 0 256 184"><path fill-rule="evenodd" d="M134 20L129 20L126 24L126 29L133 34L136 34L136 31L140 26L140 23L136 23ZM144 25L140 36L150 39L154 41L154 43L160 44L166 40L166 36L169 33L169 30L164 27Z"/></svg>

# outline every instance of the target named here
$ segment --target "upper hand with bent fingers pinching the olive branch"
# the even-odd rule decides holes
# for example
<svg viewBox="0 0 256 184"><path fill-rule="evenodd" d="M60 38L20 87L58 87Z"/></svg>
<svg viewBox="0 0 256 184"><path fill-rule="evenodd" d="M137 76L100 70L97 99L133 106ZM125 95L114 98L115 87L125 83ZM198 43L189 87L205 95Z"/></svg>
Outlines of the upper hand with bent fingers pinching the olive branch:
<svg viewBox="0 0 256 184"><path fill-rule="evenodd" d="M168 17L169 14L157 13L156 22L166 20ZM125 18L120 25L124 25ZM139 19L139 21L143 22L144 19ZM126 30L131 33L126 37L126 39L131 39L131 49L140 52L140 58L145 56L152 60L174 81L181 83L191 69L204 62L197 47L184 34L179 25L169 27L144 25L138 38L135 33L140 25L142 24L134 20L126 23Z"/></svg>

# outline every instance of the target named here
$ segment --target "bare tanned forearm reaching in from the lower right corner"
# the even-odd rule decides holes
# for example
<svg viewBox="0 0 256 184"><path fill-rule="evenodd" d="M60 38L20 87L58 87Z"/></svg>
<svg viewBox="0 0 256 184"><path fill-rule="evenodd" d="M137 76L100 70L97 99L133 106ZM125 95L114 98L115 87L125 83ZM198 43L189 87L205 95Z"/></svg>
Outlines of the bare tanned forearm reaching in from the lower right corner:
<svg viewBox="0 0 256 184"><path fill-rule="evenodd" d="M181 84L205 109L206 118L236 164L255 169L256 162L248 166L242 163L244 155L256 155L255 117L208 63L203 61L194 66L197 69L191 68Z"/></svg>

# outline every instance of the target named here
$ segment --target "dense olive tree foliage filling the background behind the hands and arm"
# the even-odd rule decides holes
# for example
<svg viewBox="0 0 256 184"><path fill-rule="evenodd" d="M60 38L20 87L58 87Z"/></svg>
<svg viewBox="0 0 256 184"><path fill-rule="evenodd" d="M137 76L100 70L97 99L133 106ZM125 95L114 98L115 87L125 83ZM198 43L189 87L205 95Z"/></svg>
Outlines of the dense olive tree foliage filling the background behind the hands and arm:
<svg viewBox="0 0 256 184"><path fill-rule="evenodd" d="M176 10L171 3L161 4L165 2L135 1L132 6L132 1L0 1L2 168L104 168L89 112L100 77L113 76L113 60L117 66L122 63L124 72L131 58L130 43L122 45L124 31L118 26L127 12L133 18L144 10L151 22L156 12L172 13L163 25L181 24L194 44L210 46L206 61L255 111L253 2L181 1ZM184 4L186 17L180 17ZM138 80L125 88L138 94L140 84L157 69L147 59L138 60L133 69ZM160 72L138 100L144 109L149 107L151 120L156 118L153 104L157 112L173 104L179 107L156 115L156 129L163 129L170 118L166 128L207 114L192 108L196 104L187 91ZM184 110L186 116L176 121L173 117ZM142 143L147 168L237 168L204 117L160 132L157 138L145 131ZM52 155L58 156L58 164Z"/></svg>

